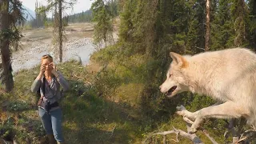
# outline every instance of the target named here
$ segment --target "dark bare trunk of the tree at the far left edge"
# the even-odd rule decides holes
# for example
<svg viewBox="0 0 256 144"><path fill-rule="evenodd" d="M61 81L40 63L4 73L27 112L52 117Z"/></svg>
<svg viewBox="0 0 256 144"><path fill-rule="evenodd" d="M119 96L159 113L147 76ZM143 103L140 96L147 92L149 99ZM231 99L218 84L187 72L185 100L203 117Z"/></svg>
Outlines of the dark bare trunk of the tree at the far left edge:
<svg viewBox="0 0 256 144"><path fill-rule="evenodd" d="M0 14L0 30L1 32L8 32L10 28L10 19L9 19L9 0L0 0L1 14ZM14 79L12 75L11 67L11 53L9 48L10 42L8 35L2 35L0 39L0 48L1 48L1 58L2 58L2 74L1 80L2 83L6 86L6 92L10 92L14 88Z"/></svg>

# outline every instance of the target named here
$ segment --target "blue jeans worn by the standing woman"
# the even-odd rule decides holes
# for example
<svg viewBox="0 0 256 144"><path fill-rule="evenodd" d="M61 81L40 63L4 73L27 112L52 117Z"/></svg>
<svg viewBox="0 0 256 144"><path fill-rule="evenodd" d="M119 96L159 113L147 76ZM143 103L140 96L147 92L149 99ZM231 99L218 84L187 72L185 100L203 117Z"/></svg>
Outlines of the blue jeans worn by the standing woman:
<svg viewBox="0 0 256 144"><path fill-rule="evenodd" d="M39 107L38 111L46 134L54 134L54 138L57 142L64 142L62 135L62 110L57 109L50 111L48 114L46 110Z"/></svg>

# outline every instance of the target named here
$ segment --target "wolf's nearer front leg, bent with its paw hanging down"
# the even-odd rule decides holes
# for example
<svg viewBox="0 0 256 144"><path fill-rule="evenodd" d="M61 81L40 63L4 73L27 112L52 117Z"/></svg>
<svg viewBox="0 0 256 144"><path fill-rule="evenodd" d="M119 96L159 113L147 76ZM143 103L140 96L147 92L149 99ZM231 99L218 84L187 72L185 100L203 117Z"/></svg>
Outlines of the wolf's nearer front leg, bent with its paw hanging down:
<svg viewBox="0 0 256 144"><path fill-rule="evenodd" d="M203 118L240 118L242 115L249 115L249 110L234 102L225 102L217 106L209 106L197 111L197 117L191 126L192 133L196 132Z"/></svg>

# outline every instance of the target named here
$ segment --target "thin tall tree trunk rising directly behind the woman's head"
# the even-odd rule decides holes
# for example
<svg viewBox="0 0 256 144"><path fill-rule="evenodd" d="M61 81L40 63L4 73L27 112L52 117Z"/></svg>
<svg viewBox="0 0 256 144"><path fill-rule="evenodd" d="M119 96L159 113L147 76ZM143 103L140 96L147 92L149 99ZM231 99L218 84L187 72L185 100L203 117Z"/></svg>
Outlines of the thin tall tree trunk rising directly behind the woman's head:
<svg viewBox="0 0 256 144"><path fill-rule="evenodd" d="M62 0L58 0L58 41L59 62L62 62Z"/></svg>

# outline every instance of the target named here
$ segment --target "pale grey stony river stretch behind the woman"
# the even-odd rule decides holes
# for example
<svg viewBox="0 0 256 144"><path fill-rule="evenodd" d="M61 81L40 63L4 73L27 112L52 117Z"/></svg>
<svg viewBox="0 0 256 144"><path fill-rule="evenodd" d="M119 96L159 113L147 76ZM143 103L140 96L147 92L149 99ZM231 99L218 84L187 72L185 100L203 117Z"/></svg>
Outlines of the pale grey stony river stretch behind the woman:
<svg viewBox="0 0 256 144"><path fill-rule="evenodd" d="M90 38L75 39L66 42L63 45L63 62L71 59L79 60L81 58L82 65L90 62L90 55L96 49ZM22 69L30 69L40 63L40 58L44 54L51 54L54 57L54 51L50 44L42 43L31 46L26 50L19 50L13 54L12 67L15 72ZM57 58L54 58L54 63L58 63Z"/></svg>

